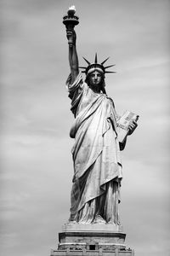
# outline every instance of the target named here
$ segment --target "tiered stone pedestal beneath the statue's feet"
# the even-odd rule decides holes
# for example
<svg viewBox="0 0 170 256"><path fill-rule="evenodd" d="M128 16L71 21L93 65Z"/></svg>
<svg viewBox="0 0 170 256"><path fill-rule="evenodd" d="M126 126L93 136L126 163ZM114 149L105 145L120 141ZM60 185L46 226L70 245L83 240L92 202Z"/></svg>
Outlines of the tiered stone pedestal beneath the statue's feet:
<svg viewBox="0 0 170 256"><path fill-rule="evenodd" d="M65 224L51 256L133 256L124 244L126 234L115 224Z"/></svg>

